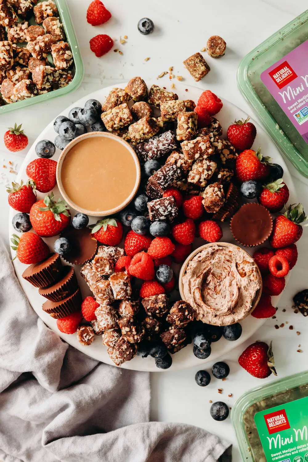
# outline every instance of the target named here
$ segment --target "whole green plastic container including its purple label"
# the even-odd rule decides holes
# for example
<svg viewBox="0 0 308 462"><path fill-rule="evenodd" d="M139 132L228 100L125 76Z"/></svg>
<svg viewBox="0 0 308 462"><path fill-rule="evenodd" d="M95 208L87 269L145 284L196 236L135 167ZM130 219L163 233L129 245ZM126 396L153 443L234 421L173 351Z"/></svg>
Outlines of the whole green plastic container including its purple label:
<svg viewBox="0 0 308 462"><path fill-rule="evenodd" d="M308 178L308 10L245 56L237 84L280 151Z"/></svg>

